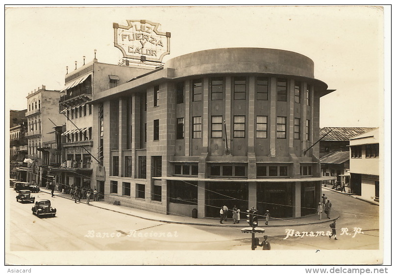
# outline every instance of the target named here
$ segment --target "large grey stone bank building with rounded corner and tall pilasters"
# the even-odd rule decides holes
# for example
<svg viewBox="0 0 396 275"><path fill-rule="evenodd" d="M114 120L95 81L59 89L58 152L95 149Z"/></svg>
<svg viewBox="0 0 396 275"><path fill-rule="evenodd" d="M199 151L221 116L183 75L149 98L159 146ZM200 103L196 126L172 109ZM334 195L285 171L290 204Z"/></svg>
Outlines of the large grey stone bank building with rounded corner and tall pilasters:
<svg viewBox="0 0 396 275"><path fill-rule="evenodd" d="M333 178L321 177L319 144L310 147L320 138L320 97L332 91L295 52L220 48L173 58L94 94L96 188L109 203L168 214L196 208L218 217L223 205L315 213L321 182Z"/></svg>

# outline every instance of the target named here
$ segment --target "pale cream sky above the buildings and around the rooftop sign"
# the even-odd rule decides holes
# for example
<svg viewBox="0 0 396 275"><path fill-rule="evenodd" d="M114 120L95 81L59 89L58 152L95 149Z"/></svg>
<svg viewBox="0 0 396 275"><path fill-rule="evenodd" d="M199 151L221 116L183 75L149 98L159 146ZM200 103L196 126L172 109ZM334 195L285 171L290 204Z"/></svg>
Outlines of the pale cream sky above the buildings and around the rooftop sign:
<svg viewBox="0 0 396 275"><path fill-rule="evenodd" d="M380 127L384 115L384 11L374 6L15 6L5 10L5 109L29 92L60 90L94 58L118 64L113 23L145 19L171 32L171 54L223 47L294 51L336 90L321 98L320 127Z"/></svg>

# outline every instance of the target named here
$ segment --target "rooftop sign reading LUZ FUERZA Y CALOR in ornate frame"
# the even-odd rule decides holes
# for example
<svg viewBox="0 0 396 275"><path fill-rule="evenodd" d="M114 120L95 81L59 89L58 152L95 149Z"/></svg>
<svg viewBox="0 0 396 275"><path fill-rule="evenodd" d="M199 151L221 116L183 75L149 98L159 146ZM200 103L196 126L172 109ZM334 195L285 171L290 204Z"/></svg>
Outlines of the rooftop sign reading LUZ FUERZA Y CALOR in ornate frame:
<svg viewBox="0 0 396 275"><path fill-rule="evenodd" d="M147 20L127 20L126 26L113 23L114 46L119 48L124 58L140 61L162 62L170 53L170 32L160 32L159 23Z"/></svg>

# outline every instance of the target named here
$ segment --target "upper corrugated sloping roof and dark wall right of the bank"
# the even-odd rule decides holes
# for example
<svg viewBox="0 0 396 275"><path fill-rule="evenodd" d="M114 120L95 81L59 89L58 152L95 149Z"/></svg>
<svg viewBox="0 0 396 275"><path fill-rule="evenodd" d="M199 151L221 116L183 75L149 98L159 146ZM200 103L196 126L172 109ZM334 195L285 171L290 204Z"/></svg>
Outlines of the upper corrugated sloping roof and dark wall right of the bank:
<svg viewBox="0 0 396 275"><path fill-rule="evenodd" d="M321 129L320 156L333 152L348 152L349 139L371 131L367 127L324 127ZM331 130L331 132L330 132ZM330 133L329 133L330 132ZM327 134L328 133L328 134ZM326 135L327 134L327 135Z"/></svg>

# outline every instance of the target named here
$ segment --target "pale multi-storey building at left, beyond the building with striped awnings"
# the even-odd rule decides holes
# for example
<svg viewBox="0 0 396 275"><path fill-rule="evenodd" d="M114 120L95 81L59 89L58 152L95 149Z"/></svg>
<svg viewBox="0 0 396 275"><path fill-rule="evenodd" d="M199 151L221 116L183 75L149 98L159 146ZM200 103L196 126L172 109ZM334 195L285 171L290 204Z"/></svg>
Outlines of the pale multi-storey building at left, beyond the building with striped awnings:
<svg viewBox="0 0 396 275"><path fill-rule="evenodd" d="M53 140L54 124L62 125L64 115L59 114L59 91L46 90L46 86L26 96L27 98L27 181L45 185L48 167L42 166L42 152L39 148L44 142Z"/></svg>

